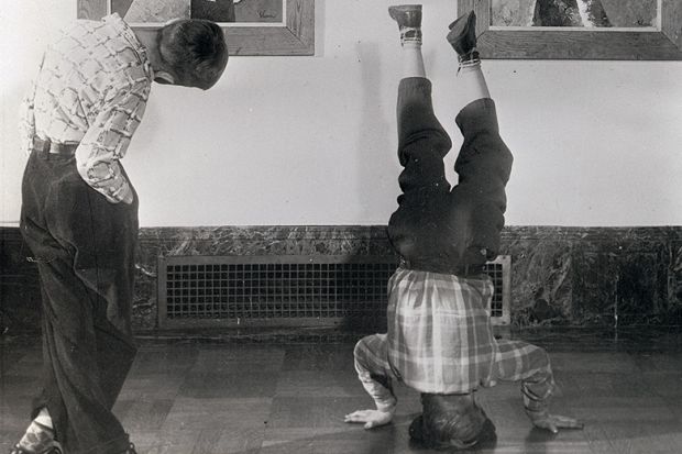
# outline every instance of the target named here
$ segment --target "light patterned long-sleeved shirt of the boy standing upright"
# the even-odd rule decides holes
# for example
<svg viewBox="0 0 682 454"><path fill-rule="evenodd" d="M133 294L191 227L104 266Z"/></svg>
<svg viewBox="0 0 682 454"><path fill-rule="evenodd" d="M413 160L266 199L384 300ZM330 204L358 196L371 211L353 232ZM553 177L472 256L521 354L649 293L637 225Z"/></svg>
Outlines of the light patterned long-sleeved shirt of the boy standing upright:
<svg viewBox="0 0 682 454"><path fill-rule="evenodd" d="M152 80L146 49L118 14L76 21L46 49L24 98L21 148L31 153L34 137L79 144L84 180L111 202L132 201L119 159L142 120Z"/></svg>

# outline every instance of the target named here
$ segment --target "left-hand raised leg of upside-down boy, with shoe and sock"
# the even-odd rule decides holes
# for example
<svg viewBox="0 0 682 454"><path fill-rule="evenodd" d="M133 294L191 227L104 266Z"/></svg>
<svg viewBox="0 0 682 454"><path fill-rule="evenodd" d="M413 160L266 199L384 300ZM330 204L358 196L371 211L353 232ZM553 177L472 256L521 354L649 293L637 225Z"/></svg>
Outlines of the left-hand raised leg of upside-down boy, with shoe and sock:
<svg viewBox="0 0 682 454"><path fill-rule="evenodd" d="M398 177L402 195L388 221L389 239L400 256L419 266L421 257L438 253L438 226L447 206L450 184L443 157L452 146L433 113L431 82L426 78L421 55L421 5L389 9L398 22L403 43L403 79L398 87ZM407 32L419 30L418 40Z"/></svg>

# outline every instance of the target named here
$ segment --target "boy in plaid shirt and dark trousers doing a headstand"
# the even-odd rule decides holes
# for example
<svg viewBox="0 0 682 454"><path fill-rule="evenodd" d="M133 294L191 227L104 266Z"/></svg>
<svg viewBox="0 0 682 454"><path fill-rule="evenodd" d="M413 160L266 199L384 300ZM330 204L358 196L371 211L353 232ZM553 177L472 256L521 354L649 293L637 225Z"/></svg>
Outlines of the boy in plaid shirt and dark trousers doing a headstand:
<svg viewBox="0 0 682 454"><path fill-rule="evenodd" d="M366 429L393 419L392 380L421 392L422 414L410 436L437 449L465 449L495 439L495 427L474 399L479 387L520 380L527 414L557 432L581 428L549 413L554 381L547 353L520 341L496 341L486 308L493 285L483 274L497 256L513 157L498 133L476 52L473 12L450 25L448 41L460 63L459 114L464 142L451 189L443 157L452 143L433 114L431 82L421 56L421 5L389 8L403 45L398 88L398 181L403 193L388 222L402 264L388 281L388 332L362 339L355 368L375 410L345 417Z"/></svg>

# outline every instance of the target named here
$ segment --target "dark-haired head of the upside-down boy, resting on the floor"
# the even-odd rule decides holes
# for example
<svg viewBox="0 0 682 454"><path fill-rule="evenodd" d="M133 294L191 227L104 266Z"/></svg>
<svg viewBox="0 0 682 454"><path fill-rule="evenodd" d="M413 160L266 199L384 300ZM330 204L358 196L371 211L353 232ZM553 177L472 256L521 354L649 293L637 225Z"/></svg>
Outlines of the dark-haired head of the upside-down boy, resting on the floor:
<svg viewBox="0 0 682 454"><path fill-rule="evenodd" d="M476 406L473 394L421 394L424 413L409 427L409 435L427 447L468 449L496 440L495 425Z"/></svg>

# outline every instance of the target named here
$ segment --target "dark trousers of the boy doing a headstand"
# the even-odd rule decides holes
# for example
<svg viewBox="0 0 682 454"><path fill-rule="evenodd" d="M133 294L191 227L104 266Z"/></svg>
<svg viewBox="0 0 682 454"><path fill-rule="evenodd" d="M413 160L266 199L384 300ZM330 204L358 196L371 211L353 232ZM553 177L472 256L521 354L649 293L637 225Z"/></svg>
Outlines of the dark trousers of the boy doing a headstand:
<svg viewBox="0 0 682 454"><path fill-rule="evenodd" d="M464 142L451 189L443 157L452 146L431 102L431 82L403 79L398 88L398 177L403 193L388 222L393 246L411 269L468 276L497 256L512 153L499 137L495 103L480 99L455 121Z"/></svg>

